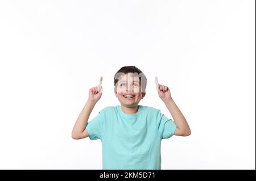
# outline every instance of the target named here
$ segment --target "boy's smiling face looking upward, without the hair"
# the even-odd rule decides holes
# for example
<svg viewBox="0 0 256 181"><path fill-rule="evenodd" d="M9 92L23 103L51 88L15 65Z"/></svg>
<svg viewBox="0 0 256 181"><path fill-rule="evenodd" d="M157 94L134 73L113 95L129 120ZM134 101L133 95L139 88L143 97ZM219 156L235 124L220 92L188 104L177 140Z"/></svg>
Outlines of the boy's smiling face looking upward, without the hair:
<svg viewBox="0 0 256 181"><path fill-rule="evenodd" d="M145 95L146 92L141 92L141 80L139 77L129 74L119 76L115 96L122 106L136 107Z"/></svg>

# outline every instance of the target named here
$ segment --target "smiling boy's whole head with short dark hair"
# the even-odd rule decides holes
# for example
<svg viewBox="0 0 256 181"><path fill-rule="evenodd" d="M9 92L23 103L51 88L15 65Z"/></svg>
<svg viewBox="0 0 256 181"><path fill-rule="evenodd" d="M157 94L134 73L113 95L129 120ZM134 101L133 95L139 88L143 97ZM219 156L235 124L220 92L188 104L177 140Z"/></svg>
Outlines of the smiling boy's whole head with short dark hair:
<svg viewBox="0 0 256 181"><path fill-rule="evenodd" d="M135 107L146 95L147 78L136 66L123 66L115 73L114 85L122 106Z"/></svg>

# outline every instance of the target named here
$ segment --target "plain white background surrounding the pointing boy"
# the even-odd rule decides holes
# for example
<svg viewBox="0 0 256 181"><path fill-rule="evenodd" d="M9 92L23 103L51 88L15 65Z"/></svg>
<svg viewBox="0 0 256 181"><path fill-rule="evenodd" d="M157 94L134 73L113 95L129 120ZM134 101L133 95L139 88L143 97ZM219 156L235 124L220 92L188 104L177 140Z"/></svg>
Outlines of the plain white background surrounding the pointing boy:
<svg viewBox="0 0 256 181"><path fill-rule="evenodd" d="M0 169L102 169L101 142L72 140L88 89L114 73L147 76L140 104L192 134L162 141L162 169L255 169L255 1L1 1Z"/></svg>

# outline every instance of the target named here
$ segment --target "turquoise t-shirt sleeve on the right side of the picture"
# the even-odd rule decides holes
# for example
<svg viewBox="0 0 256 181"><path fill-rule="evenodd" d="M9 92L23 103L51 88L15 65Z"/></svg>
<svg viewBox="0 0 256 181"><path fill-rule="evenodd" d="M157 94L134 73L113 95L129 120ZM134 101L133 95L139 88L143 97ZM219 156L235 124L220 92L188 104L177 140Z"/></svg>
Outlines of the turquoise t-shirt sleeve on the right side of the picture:
<svg viewBox="0 0 256 181"><path fill-rule="evenodd" d="M168 119L160 111L158 112L158 131L162 139L170 138L174 135L177 128L172 119Z"/></svg>

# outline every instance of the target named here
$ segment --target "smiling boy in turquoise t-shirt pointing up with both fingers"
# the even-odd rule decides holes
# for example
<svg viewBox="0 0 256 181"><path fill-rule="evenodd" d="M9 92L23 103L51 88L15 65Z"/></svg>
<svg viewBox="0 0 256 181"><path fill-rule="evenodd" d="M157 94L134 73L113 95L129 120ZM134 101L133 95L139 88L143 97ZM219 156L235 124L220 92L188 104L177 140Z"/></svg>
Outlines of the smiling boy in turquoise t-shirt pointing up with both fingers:
<svg viewBox="0 0 256 181"><path fill-rule="evenodd" d="M146 76L135 66L124 66L114 79L114 93L121 105L104 108L88 123L89 115L102 95L101 82L102 77L98 86L89 89L89 99L77 118L72 138L100 138L103 169L161 169L161 140L174 134L191 134L170 89L160 85L155 78L158 95L174 121L160 110L139 105L146 95Z"/></svg>

